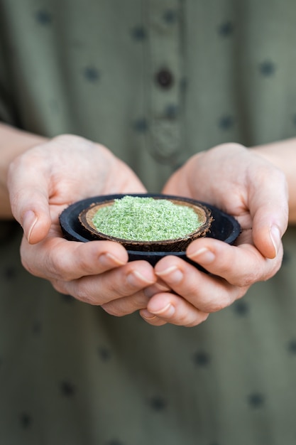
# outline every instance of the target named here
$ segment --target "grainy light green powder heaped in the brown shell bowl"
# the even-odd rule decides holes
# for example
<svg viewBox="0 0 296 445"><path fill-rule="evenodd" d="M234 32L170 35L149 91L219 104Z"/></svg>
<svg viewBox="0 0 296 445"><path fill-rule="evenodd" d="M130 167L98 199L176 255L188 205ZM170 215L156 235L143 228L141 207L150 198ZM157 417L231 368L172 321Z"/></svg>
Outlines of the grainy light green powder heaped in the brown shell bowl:
<svg viewBox="0 0 296 445"><path fill-rule="evenodd" d="M105 235L135 241L174 240L201 225L197 214L187 205L128 195L99 209L92 222Z"/></svg>

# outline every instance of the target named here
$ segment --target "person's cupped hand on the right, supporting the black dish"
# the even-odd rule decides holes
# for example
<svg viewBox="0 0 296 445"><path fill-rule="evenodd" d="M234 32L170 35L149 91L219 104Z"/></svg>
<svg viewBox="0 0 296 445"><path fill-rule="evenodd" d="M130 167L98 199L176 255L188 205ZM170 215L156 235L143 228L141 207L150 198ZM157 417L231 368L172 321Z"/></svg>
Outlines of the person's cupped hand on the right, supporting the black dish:
<svg viewBox="0 0 296 445"><path fill-rule="evenodd" d="M283 173L255 150L224 144L197 154L172 175L163 193L216 205L239 221L242 233L236 246L211 238L190 244L187 256L209 274L177 257L160 260L155 274L174 293L150 299L141 311L148 323L197 325L243 296L251 284L278 272L288 219L287 185Z"/></svg>

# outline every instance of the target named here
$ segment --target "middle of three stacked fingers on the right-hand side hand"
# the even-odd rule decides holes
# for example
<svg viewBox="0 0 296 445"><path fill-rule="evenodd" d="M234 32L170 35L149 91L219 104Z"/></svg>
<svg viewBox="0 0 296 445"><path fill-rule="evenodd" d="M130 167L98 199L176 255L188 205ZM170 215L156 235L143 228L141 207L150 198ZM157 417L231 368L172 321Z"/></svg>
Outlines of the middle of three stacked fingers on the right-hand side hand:
<svg viewBox="0 0 296 445"><path fill-rule="evenodd" d="M155 274L176 294L204 313L220 311L246 293L246 288L233 286L225 279L204 274L177 257L161 259L155 266Z"/></svg>

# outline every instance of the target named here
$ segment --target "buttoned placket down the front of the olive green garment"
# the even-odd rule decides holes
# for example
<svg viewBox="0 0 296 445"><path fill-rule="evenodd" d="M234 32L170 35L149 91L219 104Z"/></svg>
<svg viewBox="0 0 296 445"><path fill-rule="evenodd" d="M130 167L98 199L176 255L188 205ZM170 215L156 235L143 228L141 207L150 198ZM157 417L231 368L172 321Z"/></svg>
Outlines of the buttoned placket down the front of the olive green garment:
<svg viewBox="0 0 296 445"><path fill-rule="evenodd" d="M146 1L148 26L149 149L163 163L176 162L181 149L182 2Z"/></svg>

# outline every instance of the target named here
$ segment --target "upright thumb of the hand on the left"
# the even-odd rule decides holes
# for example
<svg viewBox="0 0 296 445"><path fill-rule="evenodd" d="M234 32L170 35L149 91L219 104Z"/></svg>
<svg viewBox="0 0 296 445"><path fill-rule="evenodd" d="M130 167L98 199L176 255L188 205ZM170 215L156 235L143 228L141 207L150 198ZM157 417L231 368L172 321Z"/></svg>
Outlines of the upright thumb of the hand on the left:
<svg viewBox="0 0 296 445"><path fill-rule="evenodd" d="M28 242L40 242L51 224L45 171L36 168L33 159L26 162L26 156L21 156L11 163L8 186L14 218L23 227Z"/></svg>

